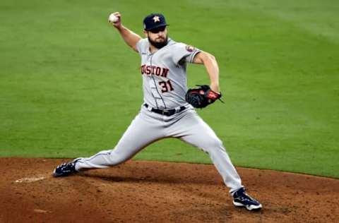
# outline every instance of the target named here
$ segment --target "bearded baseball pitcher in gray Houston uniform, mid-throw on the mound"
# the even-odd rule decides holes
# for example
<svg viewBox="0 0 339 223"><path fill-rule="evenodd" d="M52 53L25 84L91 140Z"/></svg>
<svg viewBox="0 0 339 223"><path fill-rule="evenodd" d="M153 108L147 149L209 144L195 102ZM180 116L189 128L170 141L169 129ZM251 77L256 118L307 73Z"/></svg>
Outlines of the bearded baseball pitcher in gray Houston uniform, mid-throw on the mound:
<svg viewBox="0 0 339 223"><path fill-rule="evenodd" d="M114 149L60 164L53 175L68 176L83 169L112 167L126 162L157 140L179 138L208 153L225 185L230 188L234 205L246 207L247 210L261 209L261 203L245 192L222 141L194 110L194 107L206 107L221 97L215 57L170 39L167 35L168 24L160 13L144 18L145 38L122 25L120 13L109 16L109 23L117 29L126 44L141 56L143 104ZM188 64L203 64L210 85L188 90Z"/></svg>

